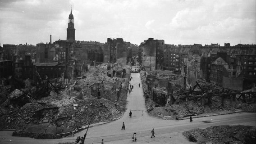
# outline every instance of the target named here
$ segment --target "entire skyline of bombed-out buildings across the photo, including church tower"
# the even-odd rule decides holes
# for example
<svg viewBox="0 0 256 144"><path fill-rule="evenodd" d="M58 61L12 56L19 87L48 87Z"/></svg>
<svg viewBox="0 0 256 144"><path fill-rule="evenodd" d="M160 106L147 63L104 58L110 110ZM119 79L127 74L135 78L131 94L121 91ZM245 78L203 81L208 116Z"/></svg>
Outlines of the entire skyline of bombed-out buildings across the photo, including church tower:
<svg viewBox="0 0 256 144"><path fill-rule="evenodd" d="M106 43L75 40L72 11L69 14L67 40L34 45L0 47L0 78L37 83L43 79L73 80L82 77L88 67L102 63L126 63L137 59L142 69L171 70L186 77L191 85L197 79L229 88L246 90L256 81L256 45L225 43L211 45L170 45L165 40L144 40L139 46L122 38L107 38ZM10 70L11 68L11 70ZM19 83L16 81L16 83ZM7 83L10 84L10 83Z"/></svg>

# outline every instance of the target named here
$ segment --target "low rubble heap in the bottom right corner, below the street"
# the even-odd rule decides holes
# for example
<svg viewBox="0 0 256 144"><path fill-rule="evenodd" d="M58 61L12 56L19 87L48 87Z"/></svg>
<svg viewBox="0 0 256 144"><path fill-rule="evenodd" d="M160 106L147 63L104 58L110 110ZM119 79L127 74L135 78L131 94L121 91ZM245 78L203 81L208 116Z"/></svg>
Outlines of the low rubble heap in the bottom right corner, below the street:
<svg viewBox="0 0 256 144"><path fill-rule="evenodd" d="M183 135L197 144L254 144L255 126L210 126L184 131Z"/></svg>

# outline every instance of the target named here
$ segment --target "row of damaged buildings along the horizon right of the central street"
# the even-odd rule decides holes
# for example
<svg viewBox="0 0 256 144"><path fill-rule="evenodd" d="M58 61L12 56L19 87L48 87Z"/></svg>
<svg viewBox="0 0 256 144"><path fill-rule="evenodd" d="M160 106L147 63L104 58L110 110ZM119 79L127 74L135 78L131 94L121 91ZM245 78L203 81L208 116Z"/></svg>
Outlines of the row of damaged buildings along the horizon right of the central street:
<svg viewBox="0 0 256 144"><path fill-rule="evenodd" d="M256 45L169 45L149 38L139 48L146 71L172 70L186 77L188 86L198 79L238 91L255 86Z"/></svg>

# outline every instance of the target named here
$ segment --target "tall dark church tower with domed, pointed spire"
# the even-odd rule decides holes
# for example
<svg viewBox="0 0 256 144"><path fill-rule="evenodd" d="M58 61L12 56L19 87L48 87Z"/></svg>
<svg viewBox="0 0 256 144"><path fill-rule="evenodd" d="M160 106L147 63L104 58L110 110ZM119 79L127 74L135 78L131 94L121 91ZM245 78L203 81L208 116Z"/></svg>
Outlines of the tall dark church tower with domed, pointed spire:
<svg viewBox="0 0 256 144"><path fill-rule="evenodd" d="M72 9L69 14L69 23L67 28L67 40L75 40L75 27L74 27L74 16L72 14Z"/></svg>

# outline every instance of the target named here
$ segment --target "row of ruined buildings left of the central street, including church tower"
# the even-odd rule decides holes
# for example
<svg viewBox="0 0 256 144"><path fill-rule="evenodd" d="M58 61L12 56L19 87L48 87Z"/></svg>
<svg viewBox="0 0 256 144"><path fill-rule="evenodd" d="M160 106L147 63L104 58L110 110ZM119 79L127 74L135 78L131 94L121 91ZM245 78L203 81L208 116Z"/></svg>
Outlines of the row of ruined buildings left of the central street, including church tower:
<svg viewBox="0 0 256 144"><path fill-rule="evenodd" d="M82 77L88 67L102 63L115 63L119 58L132 58L137 45L122 38L98 41L75 40L74 17L69 14L67 40L56 40L34 45L3 45L0 47L1 85L19 85L27 78L34 84L46 79ZM24 48L23 48L24 47ZM5 82L4 82L5 81Z"/></svg>

